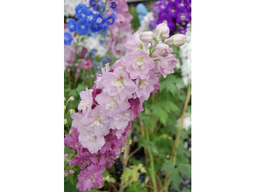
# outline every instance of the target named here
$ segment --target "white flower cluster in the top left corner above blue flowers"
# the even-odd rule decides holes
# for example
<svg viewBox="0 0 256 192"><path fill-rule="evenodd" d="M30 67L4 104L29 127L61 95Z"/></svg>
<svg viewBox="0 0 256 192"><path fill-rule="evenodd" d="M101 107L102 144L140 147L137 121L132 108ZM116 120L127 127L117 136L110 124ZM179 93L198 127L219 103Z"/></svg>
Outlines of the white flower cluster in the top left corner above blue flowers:
<svg viewBox="0 0 256 192"><path fill-rule="evenodd" d="M64 0L64 15L66 17L75 17L75 8L79 3L83 3L86 4L86 6L89 6L89 0Z"/></svg>

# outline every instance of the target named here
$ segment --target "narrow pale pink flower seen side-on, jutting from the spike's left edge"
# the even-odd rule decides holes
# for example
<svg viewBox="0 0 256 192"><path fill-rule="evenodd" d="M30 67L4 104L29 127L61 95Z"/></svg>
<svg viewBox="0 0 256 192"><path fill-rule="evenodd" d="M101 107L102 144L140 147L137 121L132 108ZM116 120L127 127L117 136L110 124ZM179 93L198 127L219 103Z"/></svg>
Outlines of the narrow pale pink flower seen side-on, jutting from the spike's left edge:
<svg viewBox="0 0 256 192"><path fill-rule="evenodd" d="M90 111L92 111L92 104L93 104L92 92L93 92L93 90L92 89L88 90L87 87L86 87L85 91L80 92L81 100L80 100L80 103L79 103L77 109L79 111L82 110L83 115L85 115L85 116L88 116Z"/></svg>

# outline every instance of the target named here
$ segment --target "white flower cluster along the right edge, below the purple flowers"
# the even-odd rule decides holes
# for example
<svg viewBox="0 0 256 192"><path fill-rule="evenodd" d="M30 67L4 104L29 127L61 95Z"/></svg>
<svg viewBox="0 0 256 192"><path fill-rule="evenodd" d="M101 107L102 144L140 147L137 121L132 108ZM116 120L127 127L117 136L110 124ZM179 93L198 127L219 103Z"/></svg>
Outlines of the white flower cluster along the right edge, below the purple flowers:
<svg viewBox="0 0 256 192"><path fill-rule="evenodd" d="M191 26L188 25L186 32L186 44L180 47L180 58L182 60L181 74L183 83L188 86L191 83Z"/></svg>

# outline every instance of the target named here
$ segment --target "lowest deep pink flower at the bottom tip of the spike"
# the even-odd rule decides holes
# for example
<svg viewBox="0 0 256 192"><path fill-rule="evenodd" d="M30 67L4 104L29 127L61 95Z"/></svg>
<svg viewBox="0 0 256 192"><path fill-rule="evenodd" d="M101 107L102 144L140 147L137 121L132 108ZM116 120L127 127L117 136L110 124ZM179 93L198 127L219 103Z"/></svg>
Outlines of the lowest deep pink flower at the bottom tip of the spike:
<svg viewBox="0 0 256 192"><path fill-rule="evenodd" d="M103 166L91 164L77 175L76 188L80 191L100 188L103 185L102 173L105 170Z"/></svg>

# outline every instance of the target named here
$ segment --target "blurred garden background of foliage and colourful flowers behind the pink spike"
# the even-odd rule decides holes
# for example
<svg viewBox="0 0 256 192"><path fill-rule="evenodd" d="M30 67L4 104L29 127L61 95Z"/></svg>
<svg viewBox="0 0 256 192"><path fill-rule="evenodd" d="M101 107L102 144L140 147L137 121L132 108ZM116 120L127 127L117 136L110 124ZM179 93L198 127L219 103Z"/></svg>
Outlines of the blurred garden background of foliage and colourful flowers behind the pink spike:
<svg viewBox="0 0 256 192"><path fill-rule="evenodd" d="M83 9L85 15L89 14L94 3L103 3L102 15L97 9L95 12L99 12L98 18L107 20L107 25L84 31ZM106 1L64 1L65 137L72 133L71 115L79 111L79 94L86 87L93 87L102 73L101 67L106 70L106 63L112 67L125 56L124 44L136 31L156 33L157 25L164 22L170 36L186 35L184 45L170 45L177 58L174 72L160 77L159 90L143 102L143 110L132 122L122 153L102 173L103 184L90 191L191 191L191 1L107 3L106 6ZM85 6L79 10L79 4ZM90 14L86 17L90 18ZM70 163L77 152L65 143L64 154L64 190L79 191L77 175L83 168L79 163Z"/></svg>

